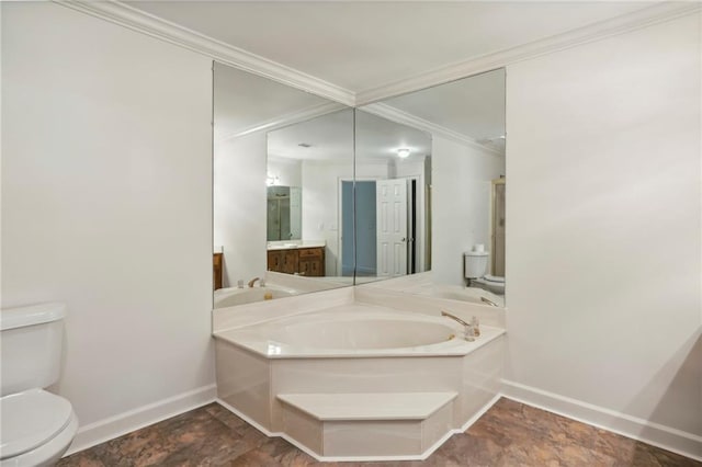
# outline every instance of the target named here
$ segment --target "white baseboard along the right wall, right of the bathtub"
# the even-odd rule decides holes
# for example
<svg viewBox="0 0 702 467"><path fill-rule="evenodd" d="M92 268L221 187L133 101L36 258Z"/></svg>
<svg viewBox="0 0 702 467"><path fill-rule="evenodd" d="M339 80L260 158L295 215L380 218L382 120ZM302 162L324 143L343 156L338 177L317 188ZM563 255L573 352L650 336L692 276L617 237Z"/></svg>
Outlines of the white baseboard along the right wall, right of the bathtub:
<svg viewBox="0 0 702 467"><path fill-rule="evenodd" d="M702 460L702 436L692 433L514 381L502 380L502 396L695 460Z"/></svg>

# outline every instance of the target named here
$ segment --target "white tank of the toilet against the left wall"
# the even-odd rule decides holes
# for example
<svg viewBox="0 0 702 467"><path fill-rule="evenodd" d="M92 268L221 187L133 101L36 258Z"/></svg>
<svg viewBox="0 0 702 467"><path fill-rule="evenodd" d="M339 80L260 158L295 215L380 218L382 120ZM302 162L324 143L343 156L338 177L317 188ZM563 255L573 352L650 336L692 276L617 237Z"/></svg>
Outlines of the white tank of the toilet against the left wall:
<svg viewBox="0 0 702 467"><path fill-rule="evenodd" d="M56 303L0 311L2 396L58 380L65 317L66 305Z"/></svg>

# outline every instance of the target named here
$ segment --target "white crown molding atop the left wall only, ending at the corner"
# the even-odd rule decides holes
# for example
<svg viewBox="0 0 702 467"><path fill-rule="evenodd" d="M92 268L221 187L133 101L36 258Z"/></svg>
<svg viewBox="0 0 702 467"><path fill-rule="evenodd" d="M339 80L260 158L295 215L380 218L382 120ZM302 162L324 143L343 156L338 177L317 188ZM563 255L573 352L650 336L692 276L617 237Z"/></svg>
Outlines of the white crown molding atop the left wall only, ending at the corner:
<svg viewBox="0 0 702 467"><path fill-rule="evenodd" d="M355 94L344 88L291 67L234 47L196 31L180 26L116 0L53 0L55 3L90 14L186 48L235 68L270 78L283 84L312 92L344 105L355 104Z"/></svg>

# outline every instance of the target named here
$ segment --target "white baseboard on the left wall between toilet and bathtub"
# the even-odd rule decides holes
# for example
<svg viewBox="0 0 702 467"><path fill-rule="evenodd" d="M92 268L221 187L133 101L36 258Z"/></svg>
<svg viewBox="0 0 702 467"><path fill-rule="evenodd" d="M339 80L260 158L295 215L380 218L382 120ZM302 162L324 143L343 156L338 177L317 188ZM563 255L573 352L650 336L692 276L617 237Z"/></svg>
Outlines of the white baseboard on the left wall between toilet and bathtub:
<svg viewBox="0 0 702 467"><path fill-rule="evenodd" d="M203 386L109 419L80 426L64 457L189 410L196 409L206 403L214 402L216 396L217 388L215 385Z"/></svg>

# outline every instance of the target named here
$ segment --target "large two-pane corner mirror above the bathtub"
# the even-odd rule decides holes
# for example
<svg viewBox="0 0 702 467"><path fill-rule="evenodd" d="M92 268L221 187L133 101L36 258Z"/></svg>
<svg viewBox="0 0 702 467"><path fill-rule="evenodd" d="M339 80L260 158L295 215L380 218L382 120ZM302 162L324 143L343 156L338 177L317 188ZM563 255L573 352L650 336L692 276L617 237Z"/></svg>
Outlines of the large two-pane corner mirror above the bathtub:
<svg viewBox="0 0 702 467"><path fill-rule="evenodd" d="M503 70L349 109L215 64L215 308L365 283L503 306L505 147Z"/></svg>

